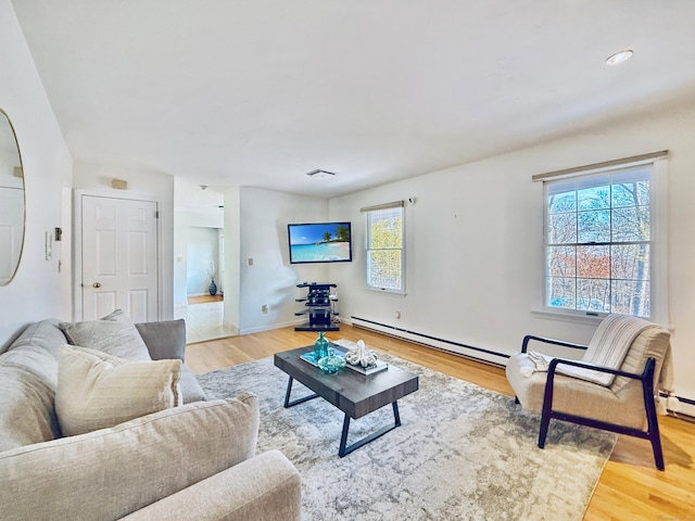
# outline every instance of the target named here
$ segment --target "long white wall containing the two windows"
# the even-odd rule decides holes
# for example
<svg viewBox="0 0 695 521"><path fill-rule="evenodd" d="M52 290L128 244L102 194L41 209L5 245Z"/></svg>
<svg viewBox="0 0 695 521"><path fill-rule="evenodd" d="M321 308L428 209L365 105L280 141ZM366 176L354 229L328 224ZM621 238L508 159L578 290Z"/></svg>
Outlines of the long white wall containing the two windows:
<svg viewBox="0 0 695 521"><path fill-rule="evenodd" d="M531 182L531 176L668 149L677 392L695 398L694 136L695 110L681 107L331 200L330 219L357 224L352 266L330 268L330 278L340 284L341 317L354 315L507 354L518 352L527 333L586 342L593 326L531 313L541 298L543 266L542 186ZM409 196L415 204L406 203L405 214L407 295L371 292L364 282L358 208Z"/></svg>

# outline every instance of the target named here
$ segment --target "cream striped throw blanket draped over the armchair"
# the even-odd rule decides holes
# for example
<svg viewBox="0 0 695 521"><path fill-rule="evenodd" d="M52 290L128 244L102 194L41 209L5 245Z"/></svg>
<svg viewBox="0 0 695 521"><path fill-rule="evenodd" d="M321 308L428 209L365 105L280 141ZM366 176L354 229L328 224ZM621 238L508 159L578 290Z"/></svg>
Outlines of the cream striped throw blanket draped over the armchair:
<svg viewBox="0 0 695 521"><path fill-rule="evenodd" d="M609 367L611 369L620 369L632 345L632 341L646 328L653 326L652 322L637 317L608 315L596 329L581 361ZM552 356L533 351L529 352L528 355L529 358L533 360L536 371L547 371L547 366L553 359ZM616 379L615 374L584 369L582 367L560 365L557 368L557 372L605 386L610 386Z"/></svg>

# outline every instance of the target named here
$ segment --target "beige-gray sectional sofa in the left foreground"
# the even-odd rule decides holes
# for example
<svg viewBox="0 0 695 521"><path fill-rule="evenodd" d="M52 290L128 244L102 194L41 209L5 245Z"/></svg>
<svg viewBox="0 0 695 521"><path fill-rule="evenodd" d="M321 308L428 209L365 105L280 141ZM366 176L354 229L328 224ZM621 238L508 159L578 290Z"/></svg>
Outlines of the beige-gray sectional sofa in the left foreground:
<svg viewBox="0 0 695 521"><path fill-rule="evenodd" d="M182 320L136 327L152 359L184 360ZM256 396L206 401L185 366L182 405L63 436L65 331L42 320L0 350L1 519L300 519L296 469L277 450L255 455Z"/></svg>

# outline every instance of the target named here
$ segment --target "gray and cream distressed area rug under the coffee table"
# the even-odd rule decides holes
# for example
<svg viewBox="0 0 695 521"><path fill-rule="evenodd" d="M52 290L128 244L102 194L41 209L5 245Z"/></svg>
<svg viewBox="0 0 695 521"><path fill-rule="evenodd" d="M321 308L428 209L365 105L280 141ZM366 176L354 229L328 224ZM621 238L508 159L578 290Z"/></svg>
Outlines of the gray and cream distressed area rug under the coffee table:
<svg viewBox="0 0 695 521"><path fill-rule="evenodd" d="M308 520L581 520L616 436L539 417L514 399L382 355L419 376L399 401L402 427L338 457L343 412L321 398L286 409L273 358L198 377L210 397L258 395L258 453L280 449L302 474ZM344 370L344 369L343 369ZM298 382L292 397L309 394ZM349 443L393 422L383 407L351 423Z"/></svg>

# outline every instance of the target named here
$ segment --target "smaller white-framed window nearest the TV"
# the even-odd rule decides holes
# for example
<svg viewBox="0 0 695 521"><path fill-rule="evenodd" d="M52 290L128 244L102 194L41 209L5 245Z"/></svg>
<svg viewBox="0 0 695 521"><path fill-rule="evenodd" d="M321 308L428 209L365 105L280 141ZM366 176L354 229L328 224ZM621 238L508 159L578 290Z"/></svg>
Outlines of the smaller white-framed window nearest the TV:
<svg viewBox="0 0 695 521"><path fill-rule="evenodd" d="M367 287L405 291L403 202L362 208L366 216Z"/></svg>

